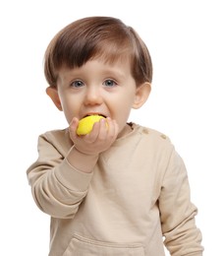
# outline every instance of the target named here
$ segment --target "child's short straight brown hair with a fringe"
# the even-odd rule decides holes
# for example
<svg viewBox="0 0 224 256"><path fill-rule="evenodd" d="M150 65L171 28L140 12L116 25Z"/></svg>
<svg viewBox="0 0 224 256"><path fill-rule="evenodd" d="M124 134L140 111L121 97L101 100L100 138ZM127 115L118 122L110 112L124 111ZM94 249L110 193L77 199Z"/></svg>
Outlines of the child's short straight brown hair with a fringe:
<svg viewBox="0 0 224 256"><path fill-rule="evenodd" d="M54 36L45 52L44 74L48 84L56 88L62 67L82 67L96 58L113 63L127 57L137 86L151 83L151 58L139 34L119 19L88 17L68 25Z"/></svg>

